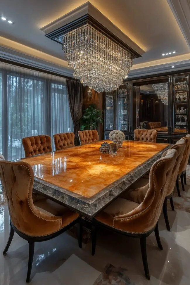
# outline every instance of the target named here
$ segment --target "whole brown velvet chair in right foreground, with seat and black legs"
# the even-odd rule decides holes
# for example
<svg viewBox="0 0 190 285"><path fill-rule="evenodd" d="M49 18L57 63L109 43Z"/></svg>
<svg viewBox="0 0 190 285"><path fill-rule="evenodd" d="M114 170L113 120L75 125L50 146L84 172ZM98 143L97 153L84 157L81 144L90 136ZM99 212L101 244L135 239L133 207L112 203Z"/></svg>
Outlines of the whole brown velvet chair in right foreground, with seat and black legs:
<svg viewBox="0 0 190 285"><path fill-rule="evenodd" d="M158 247L163 249L159 237L158 219L176 158L177 151L169 150L165 157L158 159L152 165L148 185L137 189L127 189L119 198L96 215L92 227L92 255L95 253L96 227L98 226L139 238L145 276L148 280L150 279L146 256L146 238L154 231Z"/></svg>

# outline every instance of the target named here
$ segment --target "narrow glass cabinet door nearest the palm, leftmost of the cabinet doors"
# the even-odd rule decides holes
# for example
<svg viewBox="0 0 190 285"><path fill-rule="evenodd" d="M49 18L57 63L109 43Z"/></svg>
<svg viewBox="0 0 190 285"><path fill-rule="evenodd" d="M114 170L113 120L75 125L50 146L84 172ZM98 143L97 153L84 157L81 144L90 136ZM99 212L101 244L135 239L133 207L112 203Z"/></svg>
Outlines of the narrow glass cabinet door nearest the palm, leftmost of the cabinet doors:
<svg viewBox="0 0 190 285"><path fill-rule="evenodd" d="M113 92L106 93L105 129L113 130Z"/></svg>

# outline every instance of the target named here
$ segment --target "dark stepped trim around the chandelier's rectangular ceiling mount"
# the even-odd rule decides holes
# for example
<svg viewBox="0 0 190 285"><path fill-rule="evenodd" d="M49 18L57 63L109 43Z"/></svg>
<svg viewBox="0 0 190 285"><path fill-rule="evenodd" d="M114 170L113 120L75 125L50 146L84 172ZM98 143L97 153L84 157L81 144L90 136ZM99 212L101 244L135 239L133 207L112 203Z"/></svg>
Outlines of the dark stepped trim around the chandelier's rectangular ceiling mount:
<svg viewBox="0 0 190 285"><path fill-rule="evenodd" d="M119 39L117 36L115 36L115 34L110 32L106 27L104 27L101 23L99 23L95 18L93 18L89 14L86 14L86 15L64 25L63 27L60 27L60 28L54 30L53 32L50 32L50 33L46 34L45 36L48 37L49 39L52 39L53 41L55 41L55 39L57 37L60 37L63 34L66 34L72 30L75 30L76 28L81 27L82 25L85 25L85 24L90 24L91 26L96 28L96 30L98 30L99 32L104 34L106 37L111 39L113 42L115 42L116 44L118 44L122 48L129 51L132 54L133 58L141 57L141 55L137 51L132 49L125 42L123 42L121 39ZM61 44L60 42L58 42L58 43Z"/></svg>

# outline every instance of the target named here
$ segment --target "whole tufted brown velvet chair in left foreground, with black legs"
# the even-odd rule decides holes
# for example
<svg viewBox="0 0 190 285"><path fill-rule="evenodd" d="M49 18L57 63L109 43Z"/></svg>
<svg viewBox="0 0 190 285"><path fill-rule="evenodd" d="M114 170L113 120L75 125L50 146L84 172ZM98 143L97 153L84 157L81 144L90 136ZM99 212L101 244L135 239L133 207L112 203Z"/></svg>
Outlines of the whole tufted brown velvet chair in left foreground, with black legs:
<svg viewBox="0 0 190 285"><path fill-rule="evenodd" d="M9 239L3 254L13 239L14 232L29 243L26 282L30 281L34 243L47 241L65 232L80 221L79 214L49 199L32 200L34 174L26 162L0 161L0 179L4 187L11 219ZM79 240L79 246L82 246Z"/></svg>

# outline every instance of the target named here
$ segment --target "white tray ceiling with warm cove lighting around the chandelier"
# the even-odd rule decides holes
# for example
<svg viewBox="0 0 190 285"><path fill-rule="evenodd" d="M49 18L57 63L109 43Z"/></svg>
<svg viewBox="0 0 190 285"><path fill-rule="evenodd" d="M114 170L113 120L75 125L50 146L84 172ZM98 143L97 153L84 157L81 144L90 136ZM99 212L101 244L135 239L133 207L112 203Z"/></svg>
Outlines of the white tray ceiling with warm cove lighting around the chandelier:
<svg viewBox="0 0 190 285"><path fill-rule="evenodd" d="M189 2L189 0L177 1ZM40 28L85 2L85 0L17 0L13 4L12 0L1 0L0 16L12 20L14 24L0 21L0 46L15 49L17 52L20 49L22 53L36 58L40 58L43 54L44 61L66 67L61 45L46 38ZM175 0L90 0L90 2L145 51L141 58L134 60L133 72L139 68L164 66L166 63L170 66L172 62L181 62L181 56L183 59L190 59L187 38L185 39L182 33L183 27L179 27L177 23L179 19L171 10L172 2ZM182 19L183 15L180 17ZM163 58L162 53L175 50L177 51L175 56Z"/></svg>

